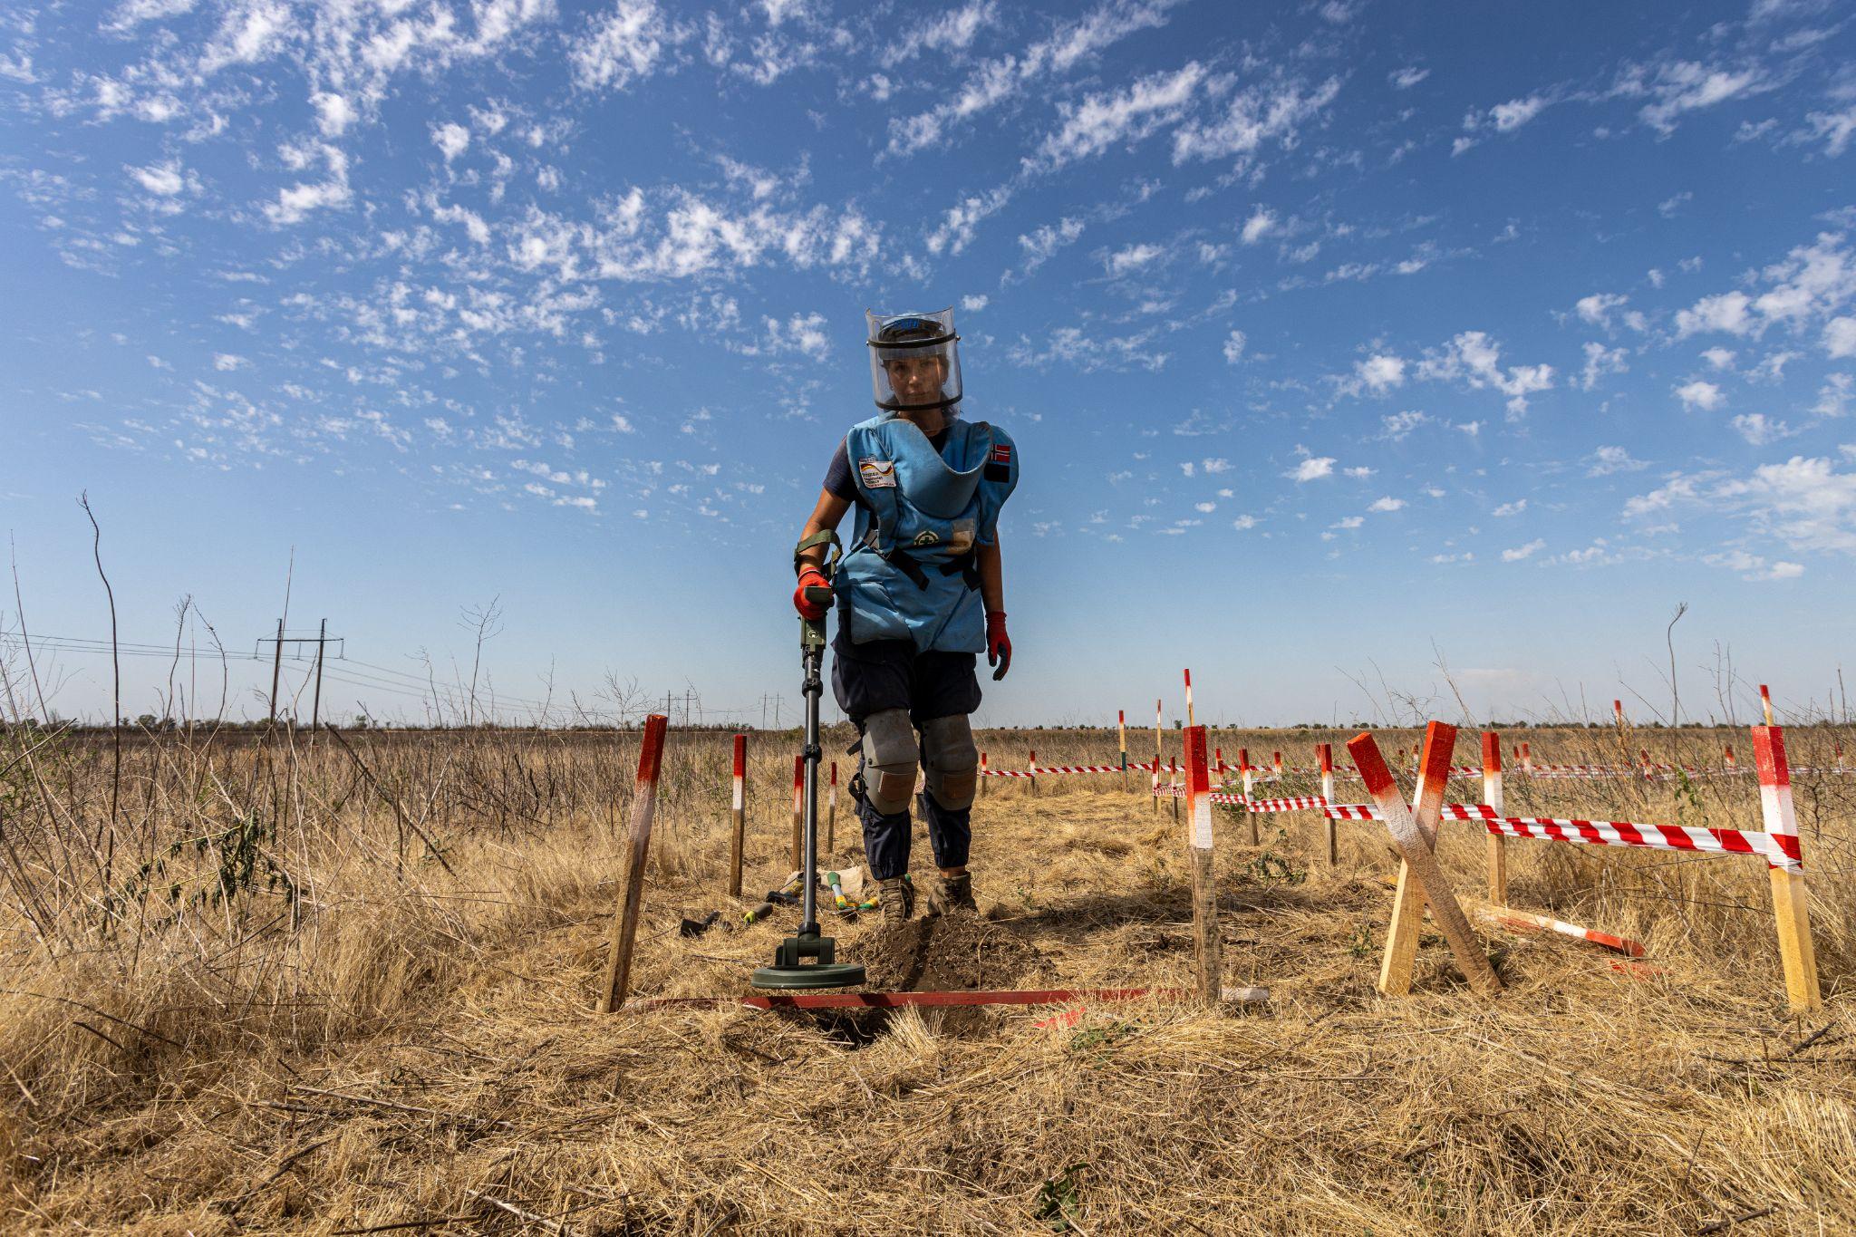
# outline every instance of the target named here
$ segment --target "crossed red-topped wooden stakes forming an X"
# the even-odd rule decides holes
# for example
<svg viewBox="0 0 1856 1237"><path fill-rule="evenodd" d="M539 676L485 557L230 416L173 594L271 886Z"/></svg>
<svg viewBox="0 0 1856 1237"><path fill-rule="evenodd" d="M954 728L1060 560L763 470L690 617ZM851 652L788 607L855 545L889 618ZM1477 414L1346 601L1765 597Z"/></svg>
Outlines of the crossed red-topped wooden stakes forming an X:
<svg viewBox="0 0 1856 1237"><path fill-rule="evenodd" d="M1379 810L1385 812L1392 844L1403 855L1399 862L1398 896L1392 901L1392 931L1386 935L1385 963L1379 968L1379 990L1386 996L1411 992L1411 972L1418 959L1418 931L1424 927L1424 905L1431 903L1431 918L1450 942L1450 951L1457 957L1457 966L1477 992L1496 992L1502 979L1489 964L1476 940L1470 920L1457 905L1457 896L1437 864L1431 846L1437 836L1437 820L1444 807L1444 786L1450 781L1450 757L1457 742L1457 727L1433 721L1425 731L1424 762L1420 766L1418 786L1412 796L1416 814L1405 807L1398 794L1398 783L1372 733L1362 733L1347 742L1353 764L1366 783Z"/></svg>

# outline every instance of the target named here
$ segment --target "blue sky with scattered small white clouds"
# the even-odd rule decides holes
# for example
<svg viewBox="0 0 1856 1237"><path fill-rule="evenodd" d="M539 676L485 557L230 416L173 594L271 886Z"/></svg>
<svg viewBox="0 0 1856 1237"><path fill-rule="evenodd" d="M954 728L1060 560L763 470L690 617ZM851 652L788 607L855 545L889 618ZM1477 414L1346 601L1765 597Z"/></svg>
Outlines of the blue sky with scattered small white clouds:
<svg viewBox="0 0 1856 1237"><path fill-rule="evenodd" d="M1347 720L1440 657L1483 714L1648 718L1678 601L1689 710L1717 647L1824 703L1852 54L1784 0L9 4L26 618L108 634L89 491L124 640L189 595L249 657L293 553L336 716L423 716L496 597L512 707L611 671L791 720L863 310L954 304L1023 456L989 723L1145 718L1182 666L1212 720ZM264 686L234 662L232 708Z"/></svg>

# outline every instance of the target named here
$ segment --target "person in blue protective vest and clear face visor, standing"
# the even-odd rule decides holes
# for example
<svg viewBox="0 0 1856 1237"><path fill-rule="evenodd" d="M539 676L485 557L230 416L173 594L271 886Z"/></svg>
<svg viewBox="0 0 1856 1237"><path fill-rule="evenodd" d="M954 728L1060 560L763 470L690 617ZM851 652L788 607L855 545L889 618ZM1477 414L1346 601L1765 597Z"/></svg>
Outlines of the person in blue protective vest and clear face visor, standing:
<svg viewBox="0 0 1856 1237"><path fill-rule="evenodd" d="M837 562L831 690L857 727L852 779L883 920L913 914L909 799L915 770L939 879L928 912L974 911L967 851L980 753L969 714L980 707L974 658L1004 679L1012 666L999 558L999 510L1019 480L1012 436L960 417L954 310L867 315L870 386L882 410L844 434L794 551L800 588L820 584L837 525L856 508Z"/></svg>

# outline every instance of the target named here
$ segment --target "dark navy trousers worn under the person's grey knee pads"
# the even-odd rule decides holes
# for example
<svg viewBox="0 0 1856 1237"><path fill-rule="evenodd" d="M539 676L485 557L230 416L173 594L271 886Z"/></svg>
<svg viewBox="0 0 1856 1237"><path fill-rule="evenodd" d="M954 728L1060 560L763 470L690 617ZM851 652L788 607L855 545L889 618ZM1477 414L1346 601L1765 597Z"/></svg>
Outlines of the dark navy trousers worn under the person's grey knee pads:
<svg viewBox="0 0 1856 1237"><path fill-rule="evenodd" d="M930 718L952 718L978 708L980 679L973 653L917 653L909 640L852 644L841 629L831 640L831 694L859 734L865 718L885 708L906 708L909 721L921 729ZM859 757L859 775L863 766ZM973 809L947 809L928 794L917 796L917 807L928 823L935 866L965 868L967 849L973 846ZM859 799L857 820L863 822L863 857L870 864L870 877L887 881L906 875L913 840L908 810L883 814Z"/></svg>

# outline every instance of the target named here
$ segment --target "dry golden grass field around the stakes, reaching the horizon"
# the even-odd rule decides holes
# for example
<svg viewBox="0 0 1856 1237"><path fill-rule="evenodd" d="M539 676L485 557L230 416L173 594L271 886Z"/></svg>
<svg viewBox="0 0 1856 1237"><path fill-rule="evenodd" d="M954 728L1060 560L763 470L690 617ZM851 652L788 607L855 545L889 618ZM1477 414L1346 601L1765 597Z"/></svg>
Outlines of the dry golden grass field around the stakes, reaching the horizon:
<svg viewBox="0 0 1856 1237"><path fill-rule="evenodd" d="M1344 738L1212 742L1308 764ZM1609 731L1511 738L1537 760L1620 753ZM1793 729L1793 764L1830 764L1839 740L1856 746ZM1745 731L1624 746L1715 762L1722 742L1750 762ZM1385 827L1342 823L1329 868L1316 814L1262 818L1251 846L1229 812L1227 983L1268 987L1266 1005L599 1016L637 734L347 744L174 734L124 746L117 777L108 742L0 736L0 1230L1856 1231L1856 777L1797 777L1826 988L1808 1018L1785 1013L1756 859L1509 842L1516 907L1648 955L1481 924L1500 996L1474 996L1427 937L1416 990L1385 1000ZM1115 747L1112 731L982 736L993 768L1026 746L1041 764ZM750 894L785 875L794 747L754 740ZM1507 805L1759 827L1750 777L1511 764ZM1463 886L1483 846L1444 825ZM926 870L921 833L917 853ZM859 862L843 799L835 861ZM638 994L741 994L791 929L791 911L733 927L726 862L728 738L674 733ZM984 922L835 922L841 953L902 981L1190 983L1182 825L1119 777L1036 796L987 779L974 874ZM679 937L709 909L722 925Z"/></svg>

